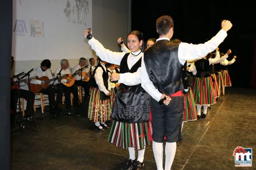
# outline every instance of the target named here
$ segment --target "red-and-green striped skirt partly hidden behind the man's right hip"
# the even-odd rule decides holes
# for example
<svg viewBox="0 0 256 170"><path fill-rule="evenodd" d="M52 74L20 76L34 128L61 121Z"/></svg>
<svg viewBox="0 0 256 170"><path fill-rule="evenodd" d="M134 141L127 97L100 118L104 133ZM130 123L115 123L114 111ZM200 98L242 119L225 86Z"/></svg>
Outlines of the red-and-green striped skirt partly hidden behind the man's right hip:
<svg viewBox="0 0 256 170"><path fill-rule="evenodd" d="M195 100L192 94L192 89L183 95L184 97L184 111L183 111L183 122L197 120L197 111L195 108Z"/></svg>

